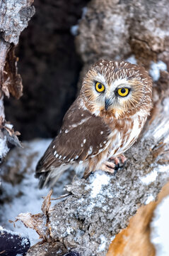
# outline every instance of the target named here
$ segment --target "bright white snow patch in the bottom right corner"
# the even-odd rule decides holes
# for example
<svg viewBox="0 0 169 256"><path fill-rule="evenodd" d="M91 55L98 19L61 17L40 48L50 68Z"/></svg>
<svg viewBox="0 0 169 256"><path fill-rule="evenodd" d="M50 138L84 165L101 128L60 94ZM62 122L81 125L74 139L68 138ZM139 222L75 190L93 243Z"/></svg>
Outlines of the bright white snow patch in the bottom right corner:
<svg viewBox="0 0 169 256"><path fill-rule="evenodd" d="M169 196L154 210L151 222L151 242L156 248L156 256L169 255Z"/></svg>

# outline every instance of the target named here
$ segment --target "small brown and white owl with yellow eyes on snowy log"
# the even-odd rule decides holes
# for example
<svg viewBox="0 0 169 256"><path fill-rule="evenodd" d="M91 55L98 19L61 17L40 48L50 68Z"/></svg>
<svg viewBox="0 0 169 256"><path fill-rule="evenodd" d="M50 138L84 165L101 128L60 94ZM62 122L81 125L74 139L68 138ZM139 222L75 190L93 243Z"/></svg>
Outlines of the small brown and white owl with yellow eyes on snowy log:
<svg viewBox="0 0 169 256"><path fill-rule="evenodd" d="M59 134L37 164L40 188L53 186L68 169L113 173L139 137L152 103L147 71L124 61L99 60L83 78ZM114 159L114 161L112 161Z"/></svg>

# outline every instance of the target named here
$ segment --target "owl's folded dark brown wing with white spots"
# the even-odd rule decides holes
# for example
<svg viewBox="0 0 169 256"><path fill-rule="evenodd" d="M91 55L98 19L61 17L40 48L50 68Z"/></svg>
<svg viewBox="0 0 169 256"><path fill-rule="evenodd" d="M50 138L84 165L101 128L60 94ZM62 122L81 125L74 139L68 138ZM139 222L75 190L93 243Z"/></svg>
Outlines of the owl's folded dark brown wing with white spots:
<svg viewBox="0 0 169 256"><path fill-rule="evenodd" d="M36 177L41 176L41 185L49 173L59 166L69 168L103 151L110 128L100 117L79 108L78 99L66 113L61 132L49 145L37 164ZM42 178L43 176L43 178Z"/></svg>

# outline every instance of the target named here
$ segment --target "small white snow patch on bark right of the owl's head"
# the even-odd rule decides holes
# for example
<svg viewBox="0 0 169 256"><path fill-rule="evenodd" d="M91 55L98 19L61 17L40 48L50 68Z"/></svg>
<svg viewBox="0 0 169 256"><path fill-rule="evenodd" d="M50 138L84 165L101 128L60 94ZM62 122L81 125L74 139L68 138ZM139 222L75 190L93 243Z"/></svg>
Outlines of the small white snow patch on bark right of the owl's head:
<svg viewBox="0 0 169 256"><path fill-rule="evenodd" d="M167 65L162 60L158 60L157 63L151 61L149 73L153 78L153 81L157 81L160 78L160 70L166 71Z"/></svg>

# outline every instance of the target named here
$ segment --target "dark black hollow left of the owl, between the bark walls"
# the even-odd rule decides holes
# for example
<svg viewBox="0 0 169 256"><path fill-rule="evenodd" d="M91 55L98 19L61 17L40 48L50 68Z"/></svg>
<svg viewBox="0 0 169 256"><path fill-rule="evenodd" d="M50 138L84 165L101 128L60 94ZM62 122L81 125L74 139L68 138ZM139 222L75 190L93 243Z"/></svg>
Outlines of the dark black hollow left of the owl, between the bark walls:
<svg viewBox="0 0 169 256"><path fill-rule="evenodd" d="M35 16L21 33L16 55L23 79L20 100L5 98L6 120L21 140L54 137L76 98L82 68L71 26L88 0L35 0Z"/></svg>

